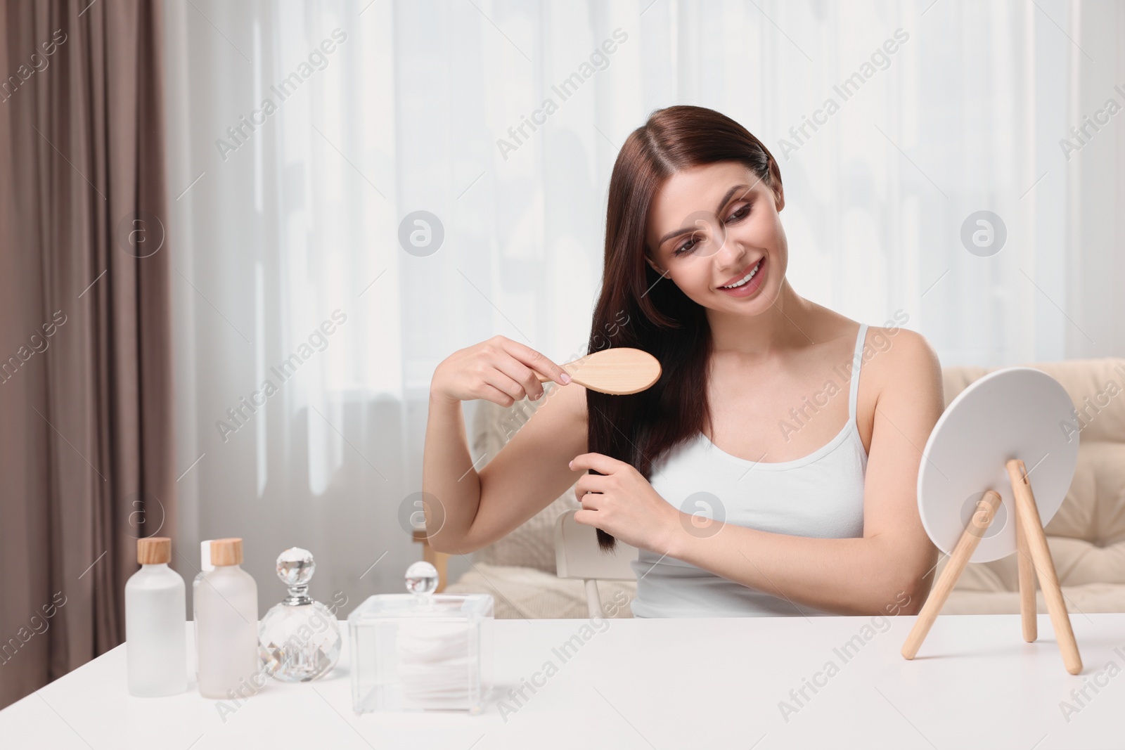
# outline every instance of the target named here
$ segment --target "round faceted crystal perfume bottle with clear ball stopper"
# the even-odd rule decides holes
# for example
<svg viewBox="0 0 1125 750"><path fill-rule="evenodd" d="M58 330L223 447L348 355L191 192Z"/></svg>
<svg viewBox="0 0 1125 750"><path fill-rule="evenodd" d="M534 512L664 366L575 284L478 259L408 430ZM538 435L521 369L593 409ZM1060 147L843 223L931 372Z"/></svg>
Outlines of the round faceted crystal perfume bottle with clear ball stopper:
<svg viewBox="0 0 1125 750"><path fill-rule="evenodd" d="M259 652L269 672L286 683L324 677L340 659L340 623L332 611L308 596L316 563L294 546L278 555L278 578L289 596L274 605L258 629Z"/></svg>

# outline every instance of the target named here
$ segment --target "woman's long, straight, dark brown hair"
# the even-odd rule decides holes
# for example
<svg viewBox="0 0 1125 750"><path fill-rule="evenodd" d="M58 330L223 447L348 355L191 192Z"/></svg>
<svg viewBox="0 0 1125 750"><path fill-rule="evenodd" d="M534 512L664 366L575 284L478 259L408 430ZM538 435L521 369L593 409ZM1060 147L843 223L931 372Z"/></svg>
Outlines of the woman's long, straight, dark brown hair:
<svg viewBox="0 0 1125 750"><path fill-rule="evenodd" d="M678 170L727 161L745 164L775 191L781 187L777 162L745 127L704 107L667 107L626 138L610 177L605 265L588 351L640 349L663 371L655 386L631 396L586 390L587 449L632 464L648 480L660 457L709 423L711 359L704 308L646 262L646 255L655 260L646 242L652 197ZM603 551L615 545L601 528L597 542Z"/></svg>

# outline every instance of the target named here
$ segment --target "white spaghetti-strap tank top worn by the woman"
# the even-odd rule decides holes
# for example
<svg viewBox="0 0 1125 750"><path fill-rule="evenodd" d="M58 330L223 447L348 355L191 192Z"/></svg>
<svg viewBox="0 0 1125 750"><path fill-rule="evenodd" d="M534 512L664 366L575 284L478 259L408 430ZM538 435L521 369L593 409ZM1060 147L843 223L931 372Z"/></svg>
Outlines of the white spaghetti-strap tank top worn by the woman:
<svg viewBox="0 0 1125 750"><path fill-rule="evenodd" d="M848 421L828 444L792 461L747 461L717 448L706 435L669 451L652 470L652 488L676 508L719 517L728 524L774 534L843 539L863 536L863 481L867 452L856 425L856 394L867 325L861 324L850 365L832 371L817 397L798 407L793 428L814 415L826 398L848 387ZM821 403L817 403L817 400ZM719 509L721 508L721 510ZM724 518L723 518L724 517ZM721 532L720 532L721 533ZM672 557L640 550L634 617L755 617L834 615L742 586Z"/></svg>

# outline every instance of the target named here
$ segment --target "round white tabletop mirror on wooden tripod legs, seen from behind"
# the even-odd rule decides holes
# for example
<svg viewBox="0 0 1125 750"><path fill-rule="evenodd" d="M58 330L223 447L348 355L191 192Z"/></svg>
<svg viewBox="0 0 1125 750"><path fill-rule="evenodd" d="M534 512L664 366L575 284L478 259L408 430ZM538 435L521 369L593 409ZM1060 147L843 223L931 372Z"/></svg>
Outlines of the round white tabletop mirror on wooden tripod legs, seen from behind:
<svg viewBox="0 0 1125 750"><path fill-rule="evenodd" d="M942 414L922 451L918 510L926 533L950 561L902 645L903 657L918 653L969 562L1016 552L1024 640L1032 643L1038 636L1038 579L1063 665L1071 675L1082 671L1043 531L1062 505L1078 462L1078 436L1060 427L1072 421L1072 409L1070 396L1051 376L1007 368L973 382Z"/></svg>

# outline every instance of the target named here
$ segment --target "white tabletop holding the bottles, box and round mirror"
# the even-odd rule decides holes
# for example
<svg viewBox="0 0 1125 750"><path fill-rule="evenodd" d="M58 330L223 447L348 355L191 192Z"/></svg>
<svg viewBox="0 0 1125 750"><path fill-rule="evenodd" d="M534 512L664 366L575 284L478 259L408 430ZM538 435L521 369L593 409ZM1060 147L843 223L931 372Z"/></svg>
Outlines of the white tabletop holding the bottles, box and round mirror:
<svg viewBox="0 0 1125 750"><path fill-rule="evenodd" d="M129 696L119 647L0 712L0 746L1125 747L1125 614L1071 615L1083 660L1077 676L1063 669L1046 615L1040 615L1036 643L1024 643L1018 615L942 616L918 658L907 661L899 649L914 620L608 620L601 631L587 620L501 620L495 623L496 680L504 684L498 697L521 678L542 685L505 717L497 696L478 716L357 716L345 644L328 678L305 685L270 680L224 722L217 702L200 697L194 681L178 696ZM554 649L574 635L580 639L583 625L592 636L564 660ZM190 660L191 623L186 636ZM854 636L855 648L844 653ZM821 672L829 661L837 670ZM547 662L557 674L534 677ZM807 687L814 677L821 685L816 693ZM790 690L802 686L809 699L798 706ZM1079 706L1071 690L1083 686L1089 699ZM783 717L782 701L796 712ZM1077 713L1064 715L1062 702Z"/></svg>

